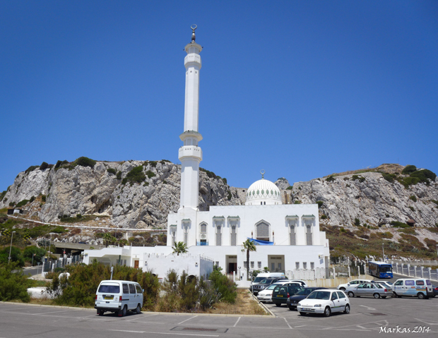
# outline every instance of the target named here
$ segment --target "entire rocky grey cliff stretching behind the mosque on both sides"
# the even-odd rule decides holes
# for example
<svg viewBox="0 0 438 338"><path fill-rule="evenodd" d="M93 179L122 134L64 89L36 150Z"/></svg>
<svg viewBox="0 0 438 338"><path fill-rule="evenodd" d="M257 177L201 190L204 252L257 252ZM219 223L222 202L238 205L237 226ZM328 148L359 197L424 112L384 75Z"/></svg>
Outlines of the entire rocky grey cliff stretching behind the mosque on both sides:
<svg viewBox="0 0 438 338"><path fill-rule="evenodd" d="M281 178L276 184L283 203L319 203L322 224L382 226L414 221L419 227L435 227L436 176L415 181L402 174L403 168L382 165L293 186ZM100 215L118 227L166 227L167 214L179 207L180 169L165 160L96 162L86 158L30 167L1 193L0 208L18 204L27 217L43 222ZM210 205L242 205L245 190L230 187L226 179L201 170L200 210Z"/></svg>

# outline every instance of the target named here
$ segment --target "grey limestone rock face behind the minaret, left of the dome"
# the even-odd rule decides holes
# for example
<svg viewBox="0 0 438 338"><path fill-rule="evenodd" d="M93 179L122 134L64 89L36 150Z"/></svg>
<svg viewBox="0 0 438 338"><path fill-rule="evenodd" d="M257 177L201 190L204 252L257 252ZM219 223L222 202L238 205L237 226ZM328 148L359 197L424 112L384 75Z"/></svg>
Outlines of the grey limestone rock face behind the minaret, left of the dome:
<svg viewBox="0 0 438 338"><path fill-rule="evenodd" d="M146 179L124 183L129 171L141 165ZM107 169L120 171L120 179ZM97 162L93 168L35 169L18 174L0 207L45 195L45 203L37 198L23 207L27 217L55 222L64 216L102 215L110 217L109 223L117 227L165 228L169 212L179 208L180 181L181 166L167 161ZM222 179L209 178L204 171L200 171L199 192L200 210L210 205L242 204L236 189L230 189Z"/></svg>

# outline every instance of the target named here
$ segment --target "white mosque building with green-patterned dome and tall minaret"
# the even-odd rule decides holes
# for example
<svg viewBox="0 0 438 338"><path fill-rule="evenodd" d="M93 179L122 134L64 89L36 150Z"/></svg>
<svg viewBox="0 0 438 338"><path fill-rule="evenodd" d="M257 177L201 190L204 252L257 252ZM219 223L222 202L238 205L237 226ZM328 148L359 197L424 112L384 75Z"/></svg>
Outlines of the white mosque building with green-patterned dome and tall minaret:
<svg viewBox="0 0 438 338"><path fill-rule="evenodd" d="M211 206L199 210L199 163L202 140L199 121L199 72L202 47L196 43L196 25L191 26L191 42L184 48L186 91L184 132L179 135L181 198L179 210L167 219L167 246L103 248L85 251L84 262L94 258L107 264L126 264L153 270L159 278L170 269L189 274L208 275L214 265L228 274L246 279L250 270L288 272L316 270L329 265L329 240L319 231L318 205L282 203L278 187L264 179L247 189L245 205ZM251 239L256 251L249 262L242 243ZM172 254L175 242L187 244L188 253Z"/></svg>

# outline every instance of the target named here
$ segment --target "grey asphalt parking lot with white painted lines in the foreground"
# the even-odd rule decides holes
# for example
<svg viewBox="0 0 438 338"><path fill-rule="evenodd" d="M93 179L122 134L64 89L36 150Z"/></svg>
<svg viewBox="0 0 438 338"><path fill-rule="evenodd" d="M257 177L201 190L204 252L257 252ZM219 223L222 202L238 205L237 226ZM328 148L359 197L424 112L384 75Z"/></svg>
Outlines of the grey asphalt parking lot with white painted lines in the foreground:
<svg viewBox="0 0 438 338"><path fill-rule="evenodd" d="M350 298L351 313L302 316L286 306L276 315L141 313L98 316L94 309L0 303L0 337L437 337L438 298ZM427 330L428 329L428 330ZM415 330L418 332L416 333ZM395 332L392 332L395 331ZM425 331L425 332L423 332ZM428 332L426 332L428 331ZM397 333L398 332L398 333Z"/></svg>

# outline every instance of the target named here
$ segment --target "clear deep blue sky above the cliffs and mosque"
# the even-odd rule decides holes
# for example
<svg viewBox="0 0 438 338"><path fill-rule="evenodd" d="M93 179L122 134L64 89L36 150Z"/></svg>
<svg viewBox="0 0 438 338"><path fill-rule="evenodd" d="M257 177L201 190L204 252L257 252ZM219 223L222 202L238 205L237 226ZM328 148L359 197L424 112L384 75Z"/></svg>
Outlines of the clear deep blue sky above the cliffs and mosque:
<svg viewBox="0 0 438 338"><path fill-rule="evenodd" d="M438 174L438 1L0 1L0 191L43 161L179 163L248 187L382 163Z"/></svg>

